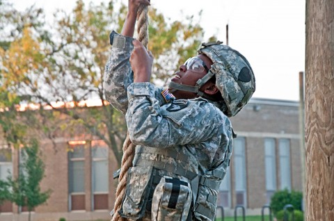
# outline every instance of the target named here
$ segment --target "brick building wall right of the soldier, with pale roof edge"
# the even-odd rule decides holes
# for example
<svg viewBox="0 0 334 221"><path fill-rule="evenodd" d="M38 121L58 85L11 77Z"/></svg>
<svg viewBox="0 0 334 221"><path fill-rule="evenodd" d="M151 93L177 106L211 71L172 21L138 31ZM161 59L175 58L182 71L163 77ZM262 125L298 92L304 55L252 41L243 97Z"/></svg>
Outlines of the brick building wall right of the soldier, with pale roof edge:
<svg viewBox="0 0 334 221"><path fill-rule="evenodd" d="M247 211L260 213L267 204L264 139L276 140L276 185L280 190L279 140L289 140L291 188L302 191L299 105L294 101L251 99L240 113L231 118L234 132L246 139ZM233 161L233 159L232 159ZM234 164L231 163L233 177ZM233 179L232 179L233 181ZM232 199L235 194L231 183ZM235 199L231 207L237 206ZM228 208L227 208L228 209Z"/></svg>

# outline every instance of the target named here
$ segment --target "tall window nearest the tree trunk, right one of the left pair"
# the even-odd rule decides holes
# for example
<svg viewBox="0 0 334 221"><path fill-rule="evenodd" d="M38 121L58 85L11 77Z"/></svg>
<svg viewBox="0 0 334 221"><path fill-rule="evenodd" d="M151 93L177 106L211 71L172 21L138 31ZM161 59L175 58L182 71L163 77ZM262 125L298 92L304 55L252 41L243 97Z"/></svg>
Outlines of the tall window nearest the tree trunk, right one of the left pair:
<svg viewBox="0 0 334 221"><path fill-rule="evenodd" d="M108 209L109 172L108 147L104 142L92 142L93 208Z"/></svg>

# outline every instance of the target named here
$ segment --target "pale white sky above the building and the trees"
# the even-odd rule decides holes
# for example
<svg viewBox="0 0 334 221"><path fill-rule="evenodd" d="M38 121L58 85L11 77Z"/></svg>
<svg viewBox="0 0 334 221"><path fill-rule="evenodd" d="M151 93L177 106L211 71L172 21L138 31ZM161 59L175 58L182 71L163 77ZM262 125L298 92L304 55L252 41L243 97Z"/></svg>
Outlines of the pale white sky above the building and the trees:
<svg viewBox="0 0 334 221"><path fill-rule="evenodd" d="M95 0L95 4L101 1ZM121 0L127 4L127 0ZM56 8L70 12L75 0L12 0L24 10L35 3L51 18ZM85 0L89 2L89 0ZM198 15L205 39L217 35L241 52L253 68L253 97L299 100L299 72L305 70L305 0L151 0L165 17L182 19Z"/></svg>

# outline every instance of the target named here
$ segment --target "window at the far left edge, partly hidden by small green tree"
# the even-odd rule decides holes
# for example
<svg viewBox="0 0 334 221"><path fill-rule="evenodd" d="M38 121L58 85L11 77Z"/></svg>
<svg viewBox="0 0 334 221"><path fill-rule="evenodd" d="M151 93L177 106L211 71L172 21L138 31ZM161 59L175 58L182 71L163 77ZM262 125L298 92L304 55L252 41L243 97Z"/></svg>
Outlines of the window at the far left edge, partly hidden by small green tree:
<svg viewBox="0 0 334 221"><path fill-rule="evenodd" d="M6 180L8 175L13 175L12 149L8 146L0 146L0 180ZM5 201L0 205L0 213L13 212L13 204Z"/></svg>

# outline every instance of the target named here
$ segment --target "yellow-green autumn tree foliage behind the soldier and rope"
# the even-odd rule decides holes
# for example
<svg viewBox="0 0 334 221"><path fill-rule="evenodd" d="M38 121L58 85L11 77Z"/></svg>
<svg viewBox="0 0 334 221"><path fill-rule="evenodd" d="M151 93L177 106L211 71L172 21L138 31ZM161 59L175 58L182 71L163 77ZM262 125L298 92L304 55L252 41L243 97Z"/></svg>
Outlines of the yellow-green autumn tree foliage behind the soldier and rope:
<svg viewBox="0 0 334 221"><path fill-rule="evenodd" d="M17 120L15 107L32 102L54 110L38 111L36 119L29 118L48 138L54 138L59 129L75 131L76 126L83 126L104 140L120 163L117 141L125 138L125 121L105 101L102 80L110 55L109 33L112 29L120 32L127 7L119 1L86 5L79 0L70 14L58 10L52 25L45 21L42 9L34 6L19 12L0 0L0 12L0 28L5 30L0 35L0 124L8 142L24 142L27 119L20 113ZM204 32L194 17L169 22L154 8L149 15L153 78L162 85L178 64L196 54ZM100 101L100 108L82 111L79 104L87 100ZM57 108L57 101L72 102L72 106ZM70 117L70 122L58 122L60 114ZM56 124L46 125L47 121Z"/></svg>

